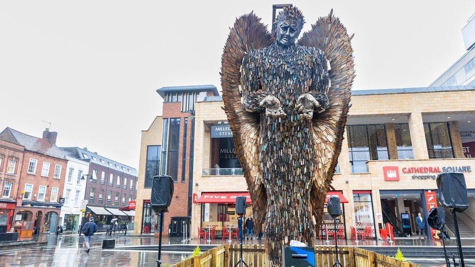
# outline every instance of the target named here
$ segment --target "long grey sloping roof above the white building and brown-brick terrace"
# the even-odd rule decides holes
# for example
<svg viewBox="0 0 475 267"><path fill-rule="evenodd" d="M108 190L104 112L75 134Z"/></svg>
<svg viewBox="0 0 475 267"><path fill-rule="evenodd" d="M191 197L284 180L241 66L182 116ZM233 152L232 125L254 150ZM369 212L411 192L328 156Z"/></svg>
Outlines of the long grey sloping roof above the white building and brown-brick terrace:
<svg viewBox="0 0 475 267"><path fill-rule="evenodd" d="M88 161L91 163L96 163L104 167L108 167L108 168L115 169L124 173L128 173L133 176L138 176L137 170L135 168L132 168L130 166L127 166L115 160L110 160L106 157L103 157L97 154L97 152L89 151L86 148L79 148L79 147L73 146L73 147L61 147L61 150L67 153L67 155L70 157L73 157L79 160Z"/></svg>

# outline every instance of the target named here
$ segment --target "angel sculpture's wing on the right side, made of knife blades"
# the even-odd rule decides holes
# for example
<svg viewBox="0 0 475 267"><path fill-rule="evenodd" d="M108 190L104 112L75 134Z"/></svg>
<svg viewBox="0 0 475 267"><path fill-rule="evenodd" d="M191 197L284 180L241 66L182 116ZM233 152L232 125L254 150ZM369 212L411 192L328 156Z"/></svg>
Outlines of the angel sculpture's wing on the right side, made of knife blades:
<svg viewBox="0 0 475 267"><path fill-rule="evenodd" d="M350 43L353 36L348 36L346 28L332 13L333 10L328 17L318 18L298 42L302 46L320 48L331 68L329 107L313 120L313 142L318 164L311 191L311 209L317 225L320 225L325 196L341 152L350 107L350 89L355 77Z"/></svg>

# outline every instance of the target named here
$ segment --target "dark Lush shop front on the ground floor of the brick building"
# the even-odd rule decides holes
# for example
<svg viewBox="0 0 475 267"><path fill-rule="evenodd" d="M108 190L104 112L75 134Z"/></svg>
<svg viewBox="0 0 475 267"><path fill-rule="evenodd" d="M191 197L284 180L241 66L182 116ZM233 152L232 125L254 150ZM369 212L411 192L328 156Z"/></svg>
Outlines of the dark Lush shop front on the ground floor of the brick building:
<svg viewBox="0 0 475 267"><path fill-rule="evenodd" d="M15 228L32 222L33 232L55 233L59 224L61 203L38 202L23 200L21 206L15 208Z"/></svg>

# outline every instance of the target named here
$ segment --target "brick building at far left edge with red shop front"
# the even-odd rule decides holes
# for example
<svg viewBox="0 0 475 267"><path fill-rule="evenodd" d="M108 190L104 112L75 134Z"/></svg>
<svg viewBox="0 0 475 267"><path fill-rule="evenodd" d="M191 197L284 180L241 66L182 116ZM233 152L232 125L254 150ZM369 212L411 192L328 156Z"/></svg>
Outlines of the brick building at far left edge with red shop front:
<svg viewBox="0 0 475 267"><path fill-rule="evenodd" d="M0 140L0 232L9 231L13 225L24 149Z"/></svg>

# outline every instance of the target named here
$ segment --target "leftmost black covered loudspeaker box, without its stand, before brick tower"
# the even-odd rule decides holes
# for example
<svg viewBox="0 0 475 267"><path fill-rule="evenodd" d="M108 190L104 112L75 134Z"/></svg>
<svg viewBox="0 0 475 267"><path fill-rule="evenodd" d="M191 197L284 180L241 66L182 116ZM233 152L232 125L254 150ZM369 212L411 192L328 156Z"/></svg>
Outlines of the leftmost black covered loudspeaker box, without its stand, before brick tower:
<svg viewBox="0 0 475 267"><path fill-rule="evenodd" d="M153 177L150 204L155 212L168 212L173 196L173 179L167 175Z"/></svg>

